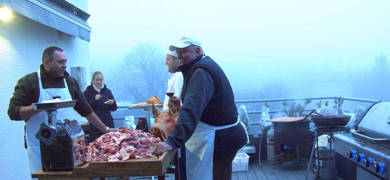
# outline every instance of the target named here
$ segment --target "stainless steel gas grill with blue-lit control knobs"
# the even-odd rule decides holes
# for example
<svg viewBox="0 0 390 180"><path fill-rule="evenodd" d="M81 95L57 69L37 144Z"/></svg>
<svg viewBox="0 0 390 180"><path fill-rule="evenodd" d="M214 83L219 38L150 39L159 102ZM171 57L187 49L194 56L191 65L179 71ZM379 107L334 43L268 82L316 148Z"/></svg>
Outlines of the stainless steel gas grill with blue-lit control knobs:
<svg viewBox="0 0 390 180"><path fill-rule="evenodd" d="M390 179L390 101L371 105L351 134L336 134L334 139L339 176L345 180Z"/></svg>

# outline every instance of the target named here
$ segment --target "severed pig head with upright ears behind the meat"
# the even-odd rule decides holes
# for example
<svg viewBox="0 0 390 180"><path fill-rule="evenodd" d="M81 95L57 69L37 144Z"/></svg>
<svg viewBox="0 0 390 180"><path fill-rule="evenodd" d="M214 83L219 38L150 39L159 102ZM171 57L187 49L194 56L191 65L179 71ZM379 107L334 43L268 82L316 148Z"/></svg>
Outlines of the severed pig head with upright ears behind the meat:
<svg viewBox="0 0 390 180"><path fill-rule="evenodd" d="M179 112L174 113L170 108L160 111L155 104L152 104L153 116L156 123L150 128L150 133L160 138L161 142L167 140L177 122Z"/></svg>

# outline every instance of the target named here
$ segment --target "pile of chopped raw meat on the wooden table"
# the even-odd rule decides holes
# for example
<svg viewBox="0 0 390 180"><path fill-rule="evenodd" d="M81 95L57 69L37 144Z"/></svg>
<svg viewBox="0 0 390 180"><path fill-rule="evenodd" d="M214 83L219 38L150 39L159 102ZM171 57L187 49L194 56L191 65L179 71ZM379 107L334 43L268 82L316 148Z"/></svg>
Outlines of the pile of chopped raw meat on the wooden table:
<svg viewBox="0 0 390 180"><path fill-rule="evenodd" d="M119 131L104 134L84 149L78 150L86 156L87 162L118 162L154 157L153 145L160 142L159 138L141 130L119 127Z"/></svg>

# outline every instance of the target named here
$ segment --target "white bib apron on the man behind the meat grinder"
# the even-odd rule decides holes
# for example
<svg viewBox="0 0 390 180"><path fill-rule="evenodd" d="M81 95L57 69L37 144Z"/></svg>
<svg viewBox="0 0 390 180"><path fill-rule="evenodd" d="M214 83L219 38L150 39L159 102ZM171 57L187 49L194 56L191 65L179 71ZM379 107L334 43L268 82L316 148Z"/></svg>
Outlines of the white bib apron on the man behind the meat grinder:
<svg viewBox="0 0 390 180"><path fill-rule="evenodd" d="M43 89L42 88L42 80L40 77L40 70L38 71L38 81L39 81L39 100L38 103L46 100L52 99L52 90L59 90L61 92L61 99L72 99L70 92L68 90L68 85L64 78L65 88L53 88L53 89ZM60 108L57 109L57 119L63 120L65 118L70 118L69 116L73 112L73 108ZM35 134L37 134L40 123L44 123L46 121L45 111L41 111L38 114L35 114L30 117L30 119L26 122L26 141L27 141L27 154L28 154L28 162L30 165L30 173L33 174L38 170L42 169L42 164L40 162L40 149L39 149L39 140L35 138Z"/></svg>

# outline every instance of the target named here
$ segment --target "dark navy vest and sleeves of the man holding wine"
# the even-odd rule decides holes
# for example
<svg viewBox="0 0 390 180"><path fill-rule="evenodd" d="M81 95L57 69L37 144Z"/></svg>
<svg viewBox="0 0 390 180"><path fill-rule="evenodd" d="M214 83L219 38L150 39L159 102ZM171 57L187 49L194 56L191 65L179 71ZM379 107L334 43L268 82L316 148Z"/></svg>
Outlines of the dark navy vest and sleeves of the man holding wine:
<svg viewBox="0 0 390 180"><path fill-rule="evenodd" d="M201 58L179 66L184 77L183 105L176 126L165 141L173 148L188 141L199 121L211 126L227 126L238 119L233 90L225 73L209 56ZM241 124L217 130L214 158L234 153L246 143L245 129Z"/></svg>

